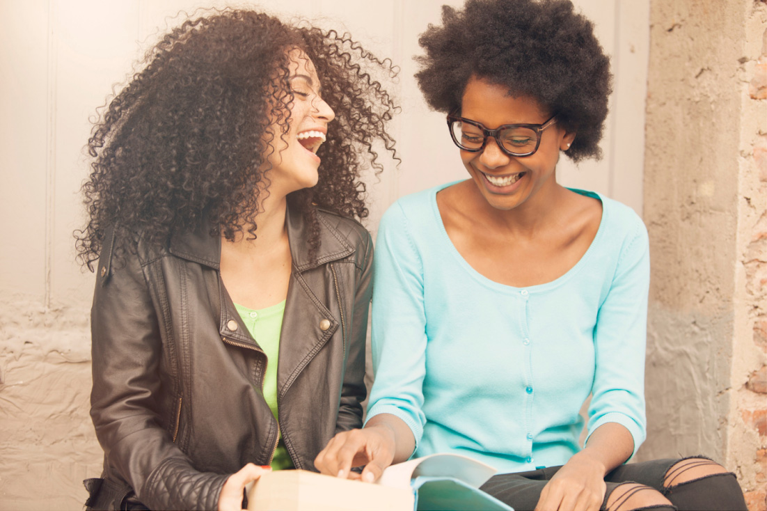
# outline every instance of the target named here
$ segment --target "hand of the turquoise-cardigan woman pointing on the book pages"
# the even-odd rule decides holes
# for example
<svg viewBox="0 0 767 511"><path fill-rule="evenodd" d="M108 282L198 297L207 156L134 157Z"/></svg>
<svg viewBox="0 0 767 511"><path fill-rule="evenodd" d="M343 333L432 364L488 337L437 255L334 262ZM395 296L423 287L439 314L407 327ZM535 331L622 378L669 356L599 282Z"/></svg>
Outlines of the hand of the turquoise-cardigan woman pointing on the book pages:
<svg viewBox="0 0 767 511"><path fill-rule="evenodd" d="M314 466L330 476L348 477L373 483L392 463L396 448L394 431L386 424L368 425L361 430L342 431L328 442L314 459ZM361 475L353 466L365 465Z"/></svg>

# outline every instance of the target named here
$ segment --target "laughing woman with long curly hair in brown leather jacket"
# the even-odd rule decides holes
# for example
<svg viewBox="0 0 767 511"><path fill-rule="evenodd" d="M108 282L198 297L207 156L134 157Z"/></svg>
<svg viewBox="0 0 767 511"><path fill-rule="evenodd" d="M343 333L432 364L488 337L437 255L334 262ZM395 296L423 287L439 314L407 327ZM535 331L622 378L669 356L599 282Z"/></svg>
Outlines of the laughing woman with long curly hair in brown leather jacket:
<svg viewBox="0 0 767 511"><path fill-rule="evenodd" d="M77 234L97 284L92 509L241 509L360 427L373 246L360 170L396 107L347 35L185 21L107 105Z"/></svg>

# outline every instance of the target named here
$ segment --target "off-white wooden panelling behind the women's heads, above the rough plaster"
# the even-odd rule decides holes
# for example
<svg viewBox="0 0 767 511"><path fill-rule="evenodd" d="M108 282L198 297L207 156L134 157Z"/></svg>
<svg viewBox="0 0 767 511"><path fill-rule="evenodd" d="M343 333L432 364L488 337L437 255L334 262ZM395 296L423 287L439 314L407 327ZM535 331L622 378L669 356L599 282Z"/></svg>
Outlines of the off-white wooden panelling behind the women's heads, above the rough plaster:
<svg viewBox="0 0 767 511"><path fill-rule="evenodd" d="M466 176L442 114L423 102L413 73L417 37L439 23L443 3L462 0L280 0L261 8L314 19L324 28L351 31L358 41L400 67L390 90L402 111L393 131L402 164L393 162L370 184L370 219L397 197ZM644 94L647 76L649 0L576 0L596 25L612 55L616 74L604 159L576 168L563 158L559 179L597 190L641 212ZM79 188L87 176L82 148L89 118L113 84L121 84L132 62L170 25L179 11L200 6L253 8L249 2L200 0L49 0L0 2L2 94L0 94L0 214L5 243L0 249L2 291L51 302L87 302L93 278L74 262L71 233L83 223Z"/></svg>

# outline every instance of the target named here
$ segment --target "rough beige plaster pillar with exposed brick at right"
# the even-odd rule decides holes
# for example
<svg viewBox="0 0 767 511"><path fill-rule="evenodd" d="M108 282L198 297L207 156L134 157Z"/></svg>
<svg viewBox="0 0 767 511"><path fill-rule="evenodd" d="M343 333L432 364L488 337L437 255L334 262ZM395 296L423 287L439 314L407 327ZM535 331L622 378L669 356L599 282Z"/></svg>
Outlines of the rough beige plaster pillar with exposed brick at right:
<svg viewBox="0 0 767 511"><path fill-rule="evenodd" d="M643 458L705 453L765 509L767 5L653 2L644 219L652 279ZM762 60L760 60L762 59ZM767 79L765 76L764 79ZM744 410L750 410L745 414ZM745 415L744 415L745 414ZM759 475L761 473L761 476Z"/></svg>

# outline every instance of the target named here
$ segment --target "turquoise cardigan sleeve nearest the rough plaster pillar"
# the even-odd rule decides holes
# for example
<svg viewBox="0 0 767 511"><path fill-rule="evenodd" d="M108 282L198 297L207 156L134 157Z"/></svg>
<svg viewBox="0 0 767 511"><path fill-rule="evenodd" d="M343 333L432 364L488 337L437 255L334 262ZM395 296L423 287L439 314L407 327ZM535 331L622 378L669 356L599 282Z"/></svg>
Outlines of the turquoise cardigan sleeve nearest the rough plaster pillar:
<svg viewBox="0 0 767 511"><path fill-rule="evenodd" d="M588 436L602 424L621 424L634 438L636 453L647 428L644 357L650 251L647 229L637 216L634 219L634 232L624 239L594 327L596 371L588 409Z"/></svg>

